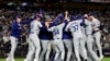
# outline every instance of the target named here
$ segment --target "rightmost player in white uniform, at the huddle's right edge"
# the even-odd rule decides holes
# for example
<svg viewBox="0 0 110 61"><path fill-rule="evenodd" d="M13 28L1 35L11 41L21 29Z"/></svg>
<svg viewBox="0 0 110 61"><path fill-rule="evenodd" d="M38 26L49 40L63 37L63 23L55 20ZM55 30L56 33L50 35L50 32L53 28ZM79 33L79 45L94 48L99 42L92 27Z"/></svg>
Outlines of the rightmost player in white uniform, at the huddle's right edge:
<svg viewBox="0 0 110 61"><path fill-rule="evenodd" d="M100 22L99 20L97 20L94 14L89 15L90 20L92 21L92 32L94 32L94 38L95 38L95 42L98 47L99 50L99 57L100 60L102 60L103 54L102 54L102 48L101 48L101 42L100 42L100 37L101 37L101 32L100 32Z"/></svg>

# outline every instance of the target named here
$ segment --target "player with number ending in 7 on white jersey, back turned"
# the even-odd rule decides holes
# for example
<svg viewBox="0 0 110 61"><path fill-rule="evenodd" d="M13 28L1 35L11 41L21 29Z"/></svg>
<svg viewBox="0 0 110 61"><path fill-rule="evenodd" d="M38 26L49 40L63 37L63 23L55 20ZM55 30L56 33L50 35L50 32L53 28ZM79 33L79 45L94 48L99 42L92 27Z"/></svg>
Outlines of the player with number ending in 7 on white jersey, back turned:
<svg viewBox="0 0 110 61"><path fill-rule="evenodd" d="M72 21L68 23L68 25L66 26L65 30L70 30L72 35L73 35L73 41L74 41L74 48L75 48L75 56L76 56L76 60L77 61L81 61L80 57L79 57L79 48L81 48L81 52L85 56L84 60L87 60L87 53L85 53L85 47L84 47L84 35L81 32L81 24L82 19L77 15L76 21Z"/></svg>

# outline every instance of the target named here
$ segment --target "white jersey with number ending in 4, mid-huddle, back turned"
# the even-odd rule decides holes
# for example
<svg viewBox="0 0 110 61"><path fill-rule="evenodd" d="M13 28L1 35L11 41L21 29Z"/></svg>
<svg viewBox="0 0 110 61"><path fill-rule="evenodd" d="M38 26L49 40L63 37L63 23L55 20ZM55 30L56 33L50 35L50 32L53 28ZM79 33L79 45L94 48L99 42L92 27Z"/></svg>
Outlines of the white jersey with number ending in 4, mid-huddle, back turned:
<svg viewBox="0 0 110 61"><path fill-rule="evenodd" d="M54 39L62 39L64 26L65 26L65 23L62 23L57 26L53 26L53 27L48 28L48 30L53 33Z"/></svg>

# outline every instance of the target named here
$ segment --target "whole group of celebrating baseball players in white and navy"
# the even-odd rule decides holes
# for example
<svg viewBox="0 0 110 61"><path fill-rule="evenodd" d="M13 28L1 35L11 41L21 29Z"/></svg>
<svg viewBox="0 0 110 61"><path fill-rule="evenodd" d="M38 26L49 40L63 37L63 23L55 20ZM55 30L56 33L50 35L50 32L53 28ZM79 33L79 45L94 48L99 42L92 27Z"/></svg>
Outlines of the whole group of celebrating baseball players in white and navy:
<svg viewBox="0 0 110 61"><path fill-rule="evenodd" d="M24 61L101 61L103 58L100 44L100 21L94 13L72 15L57 14L52 19L43 12L33 19L22 21L18 15L11 26L11 50L6 61L14 61L14 52L22 34L22 26L30 24L28 34L29 51ZM97 50L98 48L99 56ZM51 48L54 49L51 59ZM80 59L80 57L82 59Z"/></svg>

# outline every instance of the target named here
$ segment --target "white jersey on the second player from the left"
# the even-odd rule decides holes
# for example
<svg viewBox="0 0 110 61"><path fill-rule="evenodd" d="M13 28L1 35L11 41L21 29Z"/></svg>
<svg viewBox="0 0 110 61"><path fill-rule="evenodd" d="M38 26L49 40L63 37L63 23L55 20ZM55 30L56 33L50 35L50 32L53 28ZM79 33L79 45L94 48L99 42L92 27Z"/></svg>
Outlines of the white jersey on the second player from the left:
<svg viewBox="0 0 110 61"><path fill-rule="evenodd" d="M43 25L38 22L38 21L32 21L30 24L30 33L32 34L38 34L40 33L40 27L42 27Z"/></svg>

